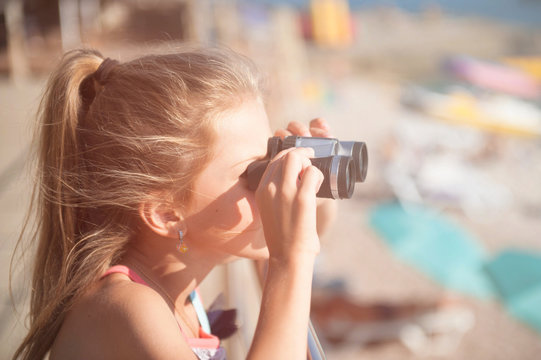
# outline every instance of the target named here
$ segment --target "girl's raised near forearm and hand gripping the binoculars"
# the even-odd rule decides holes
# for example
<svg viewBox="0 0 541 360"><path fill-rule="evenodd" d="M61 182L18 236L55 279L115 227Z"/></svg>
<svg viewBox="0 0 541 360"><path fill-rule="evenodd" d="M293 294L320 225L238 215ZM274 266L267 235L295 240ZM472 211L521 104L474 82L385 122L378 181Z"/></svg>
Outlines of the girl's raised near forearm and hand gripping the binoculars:
<svg viewBox="0 0 541 360"><path fill-rule="evenodd" d="M282 151L256 191L270 258L250 359L306 358L312 272L319 253L315 194L323 181L310 157L312 149Z"/></svg>

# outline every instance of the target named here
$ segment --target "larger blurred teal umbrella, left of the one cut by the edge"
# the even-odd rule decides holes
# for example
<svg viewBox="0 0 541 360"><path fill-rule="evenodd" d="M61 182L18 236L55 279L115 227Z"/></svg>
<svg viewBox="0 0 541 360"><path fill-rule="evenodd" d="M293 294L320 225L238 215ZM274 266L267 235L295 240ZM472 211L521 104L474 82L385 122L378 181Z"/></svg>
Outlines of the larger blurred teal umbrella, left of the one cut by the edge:
<svg viewBox="0 0 541 360"><path fill-rule="evenodd" d="M443 214L419 205L382 204L370 224L403 261L448 289L479 298L494 294L484 272L486 251Z"/></svg>

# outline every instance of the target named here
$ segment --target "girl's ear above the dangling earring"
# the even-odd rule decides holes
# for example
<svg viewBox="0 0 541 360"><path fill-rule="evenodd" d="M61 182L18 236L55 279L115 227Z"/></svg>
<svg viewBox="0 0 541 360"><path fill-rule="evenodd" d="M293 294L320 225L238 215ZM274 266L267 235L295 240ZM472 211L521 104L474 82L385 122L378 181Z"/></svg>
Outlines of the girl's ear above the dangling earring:
<svg viewBox="0 0 541 360"><path fill-rule="evenodd" d="M160 202L145 202L139 206L139 216L160 236L176 238L182 229L182 216L178 210Z"/></svg>

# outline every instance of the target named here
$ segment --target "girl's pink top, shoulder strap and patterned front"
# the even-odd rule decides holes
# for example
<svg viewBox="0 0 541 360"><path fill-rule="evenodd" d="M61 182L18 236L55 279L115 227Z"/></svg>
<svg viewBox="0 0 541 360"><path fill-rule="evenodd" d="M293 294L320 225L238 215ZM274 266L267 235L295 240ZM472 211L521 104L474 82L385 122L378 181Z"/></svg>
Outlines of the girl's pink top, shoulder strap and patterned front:
<svg viewBox="0 0 541 360"><path fill-rule="evenodd" d="M124 274L131 281L150 287L135 271L125 265L115 265L110 267L103 275L102 279L110 274ZM189 338L184 334L179 325L182 336L186 339L195 355L201 360L225 360L225 349L220 346L220 339L212 334L205 332L201 325L199 326L199 337Z"/></svg>

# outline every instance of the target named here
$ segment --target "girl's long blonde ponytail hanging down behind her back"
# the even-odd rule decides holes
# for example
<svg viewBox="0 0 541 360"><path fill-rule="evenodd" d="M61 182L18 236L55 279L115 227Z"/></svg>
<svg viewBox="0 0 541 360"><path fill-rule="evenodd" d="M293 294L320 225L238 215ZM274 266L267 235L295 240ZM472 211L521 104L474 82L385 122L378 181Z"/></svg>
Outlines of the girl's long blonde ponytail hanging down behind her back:
<svg viewBox="0 0 541 360"><path fill-rule="evenodd" d="M102 56L92 50L67 53L52 74L38 111L36 197L39 239L32 276L30 329L15 358L41 359L51 347L66 308L76 295L66 262L75 246L78 124L96 91L89 86ZM78 284L80 287L83 284Z"/></svg>

